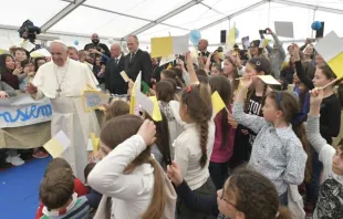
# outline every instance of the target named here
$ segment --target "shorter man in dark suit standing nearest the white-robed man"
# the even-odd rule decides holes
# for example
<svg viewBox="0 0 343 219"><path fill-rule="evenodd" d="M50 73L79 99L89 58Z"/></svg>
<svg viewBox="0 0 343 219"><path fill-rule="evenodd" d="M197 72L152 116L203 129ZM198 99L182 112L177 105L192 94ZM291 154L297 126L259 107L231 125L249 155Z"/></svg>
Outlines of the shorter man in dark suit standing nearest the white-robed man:
<svg viewBox="0 0 343 219"><path fill-rule="evenodd" d="M111 94L127 94L127 83L121 75L124 70L124 56L118 44L111 45L111 60L106 64L105 87Z"/></svg>

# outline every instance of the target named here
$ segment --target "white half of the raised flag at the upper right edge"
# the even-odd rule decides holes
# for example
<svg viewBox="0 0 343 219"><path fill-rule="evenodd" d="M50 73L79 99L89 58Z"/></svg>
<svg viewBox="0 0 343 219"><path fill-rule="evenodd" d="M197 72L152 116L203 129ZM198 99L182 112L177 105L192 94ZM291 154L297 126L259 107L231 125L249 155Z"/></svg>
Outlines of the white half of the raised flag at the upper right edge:
<svg viewBox="0 0 343 219"><path fill-rule="evenodd" d="M314 49L325 62L329 62L343 52L343 42L334 31L331 31L314 45Z"/></svg>

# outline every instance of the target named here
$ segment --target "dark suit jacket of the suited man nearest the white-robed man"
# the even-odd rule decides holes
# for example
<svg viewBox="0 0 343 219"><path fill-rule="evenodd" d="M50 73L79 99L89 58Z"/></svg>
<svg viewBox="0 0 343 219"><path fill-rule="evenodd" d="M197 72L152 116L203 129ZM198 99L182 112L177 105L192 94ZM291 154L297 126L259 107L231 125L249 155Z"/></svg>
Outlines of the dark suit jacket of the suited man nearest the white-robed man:
<svg viewBox="0 0 343 219"><path fill-rule="evenodd" d="M115 64L115 59L111 59L106 64L105 87L112 94L127 93L127 83L121 75L121 72L124 70L124 59L122 55L117 64Z"/></svg>

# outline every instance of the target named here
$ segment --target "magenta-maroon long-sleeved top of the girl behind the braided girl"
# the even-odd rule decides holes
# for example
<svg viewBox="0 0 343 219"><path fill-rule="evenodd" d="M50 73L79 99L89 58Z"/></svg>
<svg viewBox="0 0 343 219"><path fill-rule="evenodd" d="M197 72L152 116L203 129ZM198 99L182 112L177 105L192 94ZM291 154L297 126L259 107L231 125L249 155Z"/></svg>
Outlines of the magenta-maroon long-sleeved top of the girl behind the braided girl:
<svg viewBox="0 0 343 219"><path fill-rule="evenodd" d="M231 113L231 106L228 106L229 112ZM225 111L225 109L224 109ZM226 163L230 160L232 154L233 154L233 143L235 143L235 133L236 129L231 127L230 124L228 124L228 138L227 144L221 146L221 112L219 112L215 117L215 125L216 125L216 133L215 133L215 144L211 155L211 161L215 163Z"/></svg>

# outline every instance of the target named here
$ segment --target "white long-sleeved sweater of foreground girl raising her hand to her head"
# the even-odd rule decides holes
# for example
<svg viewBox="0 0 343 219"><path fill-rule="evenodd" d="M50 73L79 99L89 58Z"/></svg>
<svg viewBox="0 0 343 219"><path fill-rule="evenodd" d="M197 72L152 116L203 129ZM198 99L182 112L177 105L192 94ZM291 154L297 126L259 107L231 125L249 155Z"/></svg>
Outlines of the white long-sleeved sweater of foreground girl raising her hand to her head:
<svg viewBox="0 0 343 219"><path fill-rule="evenodd" d="M96 164L89 175L93 189L112 197L111 218L138 219L152 201L155 177L149 164L136 167L131 174L123 174L145 148L142 136L134 135Z"/></svg>

